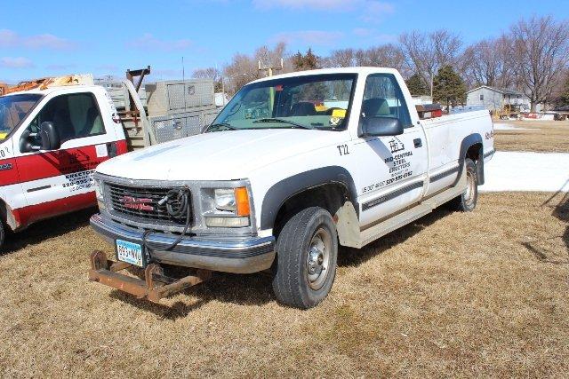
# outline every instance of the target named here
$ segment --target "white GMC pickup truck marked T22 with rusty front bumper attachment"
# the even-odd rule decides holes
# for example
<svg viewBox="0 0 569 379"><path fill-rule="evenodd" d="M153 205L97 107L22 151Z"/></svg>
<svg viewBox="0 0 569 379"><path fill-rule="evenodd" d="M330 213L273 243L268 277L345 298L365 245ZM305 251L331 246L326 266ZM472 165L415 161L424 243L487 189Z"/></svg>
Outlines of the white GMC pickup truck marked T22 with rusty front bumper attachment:
<svg viewBox="0 0 569 379"><path fill-rule="evenodd" d="M272 269L276 299L306 309L332 288L340 246L362 248L446 202L474 209L492 154L488 111L421 120L394 69L261 79L203 134L99 165L91 225L119 262L92 256L90 279L152 300L150 285L116 271L152 265L148 284L170 265Z"/></svg>

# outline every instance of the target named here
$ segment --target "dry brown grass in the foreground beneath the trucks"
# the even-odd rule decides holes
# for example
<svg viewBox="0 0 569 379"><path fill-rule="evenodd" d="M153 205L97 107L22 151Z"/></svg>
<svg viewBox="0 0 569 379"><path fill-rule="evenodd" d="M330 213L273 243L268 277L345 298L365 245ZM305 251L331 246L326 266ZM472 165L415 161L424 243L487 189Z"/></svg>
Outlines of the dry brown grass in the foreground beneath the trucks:
<svg viewBox="0 0 569 379"><path fill-rule="evenodd" d="M87 281L111 251L88 212L47 221L0 256L0 376L566 377L569 198L551 195L485 193L342 249L306 312L265 274L139 301Z"/></svg>

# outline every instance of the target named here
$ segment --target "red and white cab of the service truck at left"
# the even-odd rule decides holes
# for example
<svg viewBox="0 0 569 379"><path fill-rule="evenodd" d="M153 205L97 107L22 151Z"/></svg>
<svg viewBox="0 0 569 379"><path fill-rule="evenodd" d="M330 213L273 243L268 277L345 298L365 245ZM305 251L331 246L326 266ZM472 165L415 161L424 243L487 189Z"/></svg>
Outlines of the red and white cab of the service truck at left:
<svg viewBox="0 0 569 379"><path fill-rule="evenodd" d="M77 79L77 82L84 79ZM95 204L92 174L126 152L107 92L79 84L0 97L2 231Z"/></svg>

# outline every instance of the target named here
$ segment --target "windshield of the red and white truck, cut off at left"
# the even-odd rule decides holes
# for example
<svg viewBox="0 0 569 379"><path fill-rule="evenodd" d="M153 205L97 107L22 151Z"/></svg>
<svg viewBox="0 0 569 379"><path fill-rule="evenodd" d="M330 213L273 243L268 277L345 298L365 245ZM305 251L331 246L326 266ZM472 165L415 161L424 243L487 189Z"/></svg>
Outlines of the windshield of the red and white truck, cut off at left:
<svg viewBox="0 0 569 379"><path fill-rule="evenodd" d="M6 138L20 124L41 97L37 94L0 97L0 139Z"/></svg>

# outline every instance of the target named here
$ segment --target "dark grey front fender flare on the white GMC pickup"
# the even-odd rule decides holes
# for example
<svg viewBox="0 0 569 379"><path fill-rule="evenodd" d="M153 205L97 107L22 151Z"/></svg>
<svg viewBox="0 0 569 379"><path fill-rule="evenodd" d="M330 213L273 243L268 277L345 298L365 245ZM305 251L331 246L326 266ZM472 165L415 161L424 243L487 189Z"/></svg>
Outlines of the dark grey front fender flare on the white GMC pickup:
<svg viewBox="0 0 569 379"><path fill-rule="evenodd" d="M356 185L349 171L341 166L327 166L284 178L271 186L265 193L262 202L260 228L272 228L275 224L278 210L281 209L285 201L292 198L295 194L328 184L341 184L346 187L350 197L349 200L354 204L359 217Z"/></svg>

